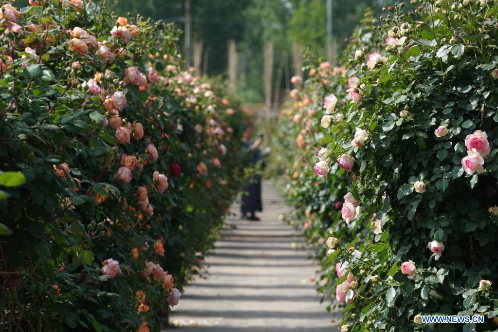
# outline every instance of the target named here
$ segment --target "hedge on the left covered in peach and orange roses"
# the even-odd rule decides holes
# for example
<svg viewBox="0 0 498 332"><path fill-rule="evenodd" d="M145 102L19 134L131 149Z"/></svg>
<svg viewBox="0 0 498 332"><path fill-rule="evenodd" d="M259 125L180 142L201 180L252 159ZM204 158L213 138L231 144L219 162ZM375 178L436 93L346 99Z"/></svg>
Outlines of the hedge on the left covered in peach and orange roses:
<svg viewBox="0 0 498 332"><path fill-rule="evenodd" d="M29 3L0 10L1 328L159 331L239 188L246 115L171 26Z"/></svg>

